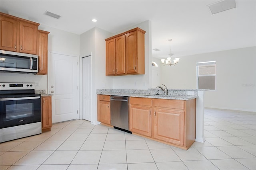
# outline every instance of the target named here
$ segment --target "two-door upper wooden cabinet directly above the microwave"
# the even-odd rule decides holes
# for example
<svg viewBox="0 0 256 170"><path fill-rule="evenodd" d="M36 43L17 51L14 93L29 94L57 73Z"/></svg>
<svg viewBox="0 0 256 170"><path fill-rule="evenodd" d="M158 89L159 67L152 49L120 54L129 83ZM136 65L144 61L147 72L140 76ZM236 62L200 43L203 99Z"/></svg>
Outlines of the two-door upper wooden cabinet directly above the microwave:
<svg viewBox="0 0 256 170"><path fill-rule="evenodd" d="M0 13L0 49L36 54L39 23Z"/></svg>

